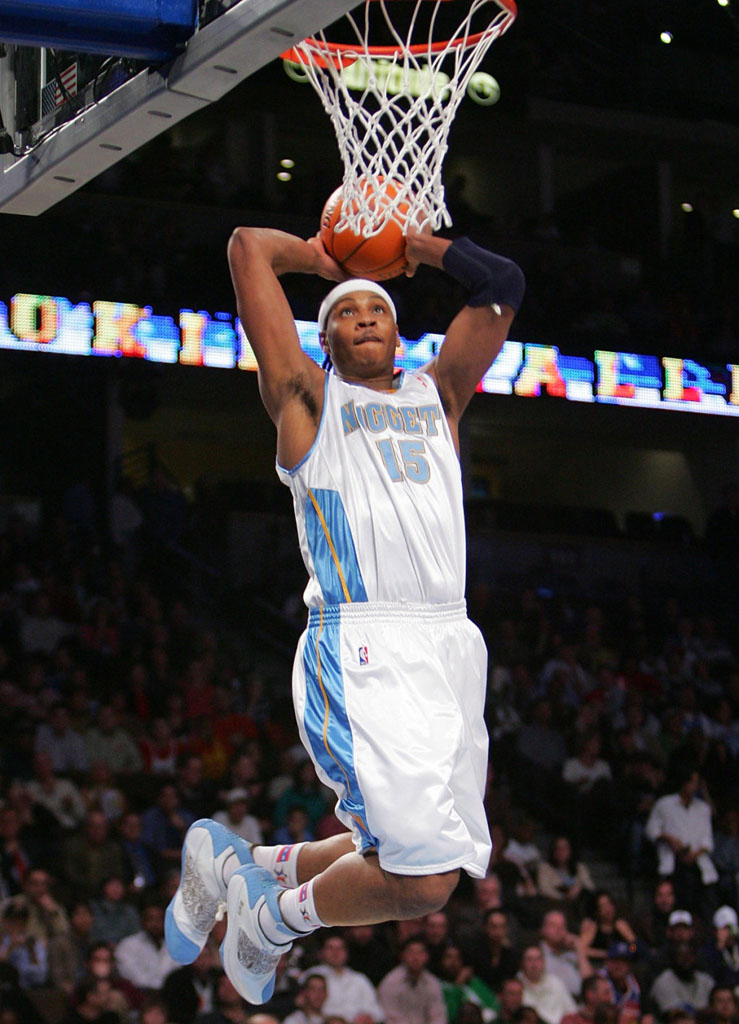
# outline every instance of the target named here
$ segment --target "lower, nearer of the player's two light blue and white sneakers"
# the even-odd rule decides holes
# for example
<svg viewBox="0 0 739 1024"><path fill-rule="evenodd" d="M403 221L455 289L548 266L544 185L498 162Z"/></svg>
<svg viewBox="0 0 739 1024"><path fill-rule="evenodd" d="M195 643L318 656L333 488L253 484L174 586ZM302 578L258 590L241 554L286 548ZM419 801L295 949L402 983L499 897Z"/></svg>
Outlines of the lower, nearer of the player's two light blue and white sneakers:
<svg viewBox="0 0 739 1024"><path fill-rule="evenodd" d="M228 928L221 943L221 961L231 984L248 1002L260 1006L274 991L277 961L293 945L296 933L282 922L277 904L281 886L268 870L247 864L228 883ZM285 943L270 941L259 924L268 913Z"/></svg>

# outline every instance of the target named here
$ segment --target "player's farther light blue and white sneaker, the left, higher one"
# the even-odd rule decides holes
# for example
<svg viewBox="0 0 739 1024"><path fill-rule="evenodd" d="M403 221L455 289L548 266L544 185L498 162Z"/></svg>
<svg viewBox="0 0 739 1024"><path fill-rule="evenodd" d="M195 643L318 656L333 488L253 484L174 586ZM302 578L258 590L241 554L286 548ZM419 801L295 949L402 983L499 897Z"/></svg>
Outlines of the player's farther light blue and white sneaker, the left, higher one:
<svg viewBox="0 0 739 1024"><path fill-rule="evenodd" d="M232 853L242 864L254 863L249 844L217 821L201 818L187 829L179 887L164 920L167 948L178 964L198 958L225 912L223 864Z"/></svg>

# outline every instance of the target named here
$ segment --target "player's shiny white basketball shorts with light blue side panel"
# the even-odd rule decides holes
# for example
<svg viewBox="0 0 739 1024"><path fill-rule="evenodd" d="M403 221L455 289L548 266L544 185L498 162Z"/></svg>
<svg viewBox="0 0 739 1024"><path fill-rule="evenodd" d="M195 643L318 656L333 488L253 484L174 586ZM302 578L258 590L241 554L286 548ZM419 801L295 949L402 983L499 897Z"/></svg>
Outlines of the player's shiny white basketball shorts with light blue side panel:
<svg viewBox="0 0 739 1024"><path fill-rule="evenodd" d="M486 670L464 601L310 611L293 672L301 738L356 849L388 871L487 870Z"/></svg>

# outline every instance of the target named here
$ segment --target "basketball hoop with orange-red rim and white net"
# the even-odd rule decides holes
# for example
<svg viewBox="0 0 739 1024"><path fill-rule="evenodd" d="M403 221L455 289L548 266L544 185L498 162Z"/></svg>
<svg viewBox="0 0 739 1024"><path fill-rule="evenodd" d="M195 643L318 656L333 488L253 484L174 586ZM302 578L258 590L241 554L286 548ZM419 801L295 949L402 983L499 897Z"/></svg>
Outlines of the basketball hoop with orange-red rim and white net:
<svg viewBox="0 0 739 1024"><path fill-rule="evenodd" d="M348 42L330 42L321 32L282 54L301 66L334 125L346 211L337 231L370 237L391 219L403 228L451 224L441 181L451 122L487 48L513 24L517 8L515 0L466 0L447 35L440 29L442 4L446 25L452 0L364 0L363 17L346 15ZM402 27L401 7L408 10ZM440 32L445 39L435 38ZM383 36L389 41L378 43ZM377 203L388 180L397 191L391 203Z"/></svg>

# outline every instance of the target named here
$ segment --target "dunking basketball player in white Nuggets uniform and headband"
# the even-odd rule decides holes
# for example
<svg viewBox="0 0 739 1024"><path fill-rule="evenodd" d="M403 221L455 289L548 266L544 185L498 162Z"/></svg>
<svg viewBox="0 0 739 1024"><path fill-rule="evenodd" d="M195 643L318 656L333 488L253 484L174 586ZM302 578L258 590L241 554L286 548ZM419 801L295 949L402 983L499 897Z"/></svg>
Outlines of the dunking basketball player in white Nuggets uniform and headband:
<svg viewBox="0 0 739 1024"><path fill-rule="evenodd" d="M226 908L224 968L260 1004L298 936L430 913L461 868L485 874L486 651L465 610L459 422L524 282L467 239L410 234L407 273L442 267L470 294L439 354L397 375L390 295L342 280L318 239L243 227L228 255L309 573L293 675L301 738L350 829L250 848L209 819L190 827L170 952L194 959ZM278 281L289 271L341 281L318 312L331 372L301 349Z"/></svg>

